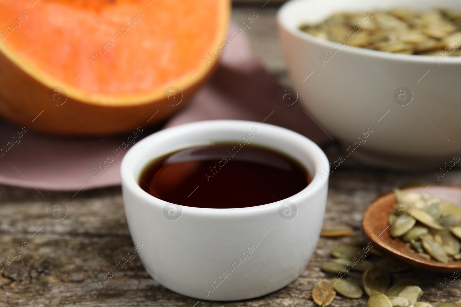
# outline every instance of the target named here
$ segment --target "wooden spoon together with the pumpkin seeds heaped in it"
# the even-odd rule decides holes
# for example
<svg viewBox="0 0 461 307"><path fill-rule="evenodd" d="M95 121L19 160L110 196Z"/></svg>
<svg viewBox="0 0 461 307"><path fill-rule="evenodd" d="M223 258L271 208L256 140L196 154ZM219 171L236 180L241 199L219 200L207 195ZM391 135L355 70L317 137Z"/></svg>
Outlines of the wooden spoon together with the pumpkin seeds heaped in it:
<svg viewBox="0 0 461 307"><path fill-rule="evenodd" d="M440 273L461 267L461 187L395 190L366 210L362 232L383 255Z"/></svg>

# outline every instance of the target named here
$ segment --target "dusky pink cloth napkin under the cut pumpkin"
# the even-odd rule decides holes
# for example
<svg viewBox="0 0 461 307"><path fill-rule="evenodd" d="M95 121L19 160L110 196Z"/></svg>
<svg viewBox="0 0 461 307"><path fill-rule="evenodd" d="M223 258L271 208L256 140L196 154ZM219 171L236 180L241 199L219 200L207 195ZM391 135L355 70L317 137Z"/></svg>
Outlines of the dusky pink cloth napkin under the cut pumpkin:
<svg viewBox="0 0 461 307"><path fill-rule="evenodd" d="M264 121L301 133L319 145L331 141L302 109L296 90L279 85L252 56L244 32L226 47L216 73L163 128L209 119ZM0 149L8 148L0 153L0 183L56 191L120 185L120 162L131 145L121 153L116 149L128 135L101 141L23 130L27 127L0 120ZM154 131L142 130L135 141ZM108 162L109 156L112 162Z"/></svg>

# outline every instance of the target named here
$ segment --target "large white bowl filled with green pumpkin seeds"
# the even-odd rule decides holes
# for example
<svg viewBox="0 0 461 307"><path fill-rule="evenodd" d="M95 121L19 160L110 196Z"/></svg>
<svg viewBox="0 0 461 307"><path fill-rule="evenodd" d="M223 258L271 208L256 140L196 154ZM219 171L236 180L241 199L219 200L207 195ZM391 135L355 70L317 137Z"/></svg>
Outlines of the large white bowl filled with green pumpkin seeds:
<svg viewBox="0 0 461 307"><path fill-rule="evenodd" d="M461 2L291 0L278 12L293 86L344 155L443 166L461 148Z"/></svg>

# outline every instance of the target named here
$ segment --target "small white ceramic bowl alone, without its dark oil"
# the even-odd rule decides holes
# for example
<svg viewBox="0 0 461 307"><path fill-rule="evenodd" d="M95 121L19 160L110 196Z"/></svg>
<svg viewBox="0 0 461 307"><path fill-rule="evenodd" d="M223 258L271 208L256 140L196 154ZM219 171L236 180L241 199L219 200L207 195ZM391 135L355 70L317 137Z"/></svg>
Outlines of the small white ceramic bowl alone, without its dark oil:
<svg viewBox="0 0 461 307"><path fill-rule="evenodd" d="M251 144L285 152L313 174L305 189L275 203L206 209L166 203L139 187L138 175L153 158L216 139L238 142L252 127ZM125 213L142 264L166 288L200 300L249 299L283 288L304 272L317 245L328 172L325 154L311 140L261 122L204 121L154 133L121 165Z"/></svg>

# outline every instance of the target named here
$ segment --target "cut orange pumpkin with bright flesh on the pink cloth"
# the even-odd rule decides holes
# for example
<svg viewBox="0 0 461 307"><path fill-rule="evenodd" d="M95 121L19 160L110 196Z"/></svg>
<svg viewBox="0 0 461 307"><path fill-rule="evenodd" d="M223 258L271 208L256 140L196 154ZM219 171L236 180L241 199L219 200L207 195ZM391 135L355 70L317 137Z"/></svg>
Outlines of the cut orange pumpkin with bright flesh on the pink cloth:
<svg viewBox="0 0 461 307"><path fill-rule="evenodd" d="M0 115L75 136L164 121L213 71L229 15L230 0L0 0Z"/></svg>

